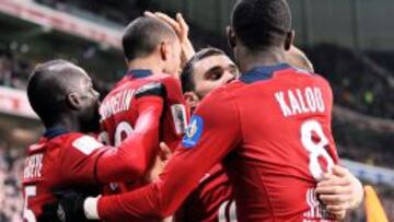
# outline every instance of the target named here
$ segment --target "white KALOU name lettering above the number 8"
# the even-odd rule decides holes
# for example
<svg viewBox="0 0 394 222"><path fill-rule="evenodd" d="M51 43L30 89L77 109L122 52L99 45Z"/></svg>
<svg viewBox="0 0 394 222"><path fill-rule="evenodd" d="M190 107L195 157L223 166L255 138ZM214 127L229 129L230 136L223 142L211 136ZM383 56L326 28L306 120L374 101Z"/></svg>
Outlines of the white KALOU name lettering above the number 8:
<svg viewBox="0 0 394 222"><path fill-rule="evenodd" d="M285 117L325 112L323 93L320 87L279 91L275 93L275 98Z"/></svg>

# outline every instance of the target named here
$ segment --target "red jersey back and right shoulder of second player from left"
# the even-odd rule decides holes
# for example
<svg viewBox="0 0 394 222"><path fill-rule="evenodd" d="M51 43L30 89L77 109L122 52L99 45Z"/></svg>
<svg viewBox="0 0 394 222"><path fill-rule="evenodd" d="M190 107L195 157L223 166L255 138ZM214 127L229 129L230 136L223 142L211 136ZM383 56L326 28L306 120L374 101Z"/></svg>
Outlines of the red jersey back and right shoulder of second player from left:
<svg viewBox="0 0 394 222"><path fill-rule="evenodd" d="M117 147L131 133L138 120L137 98L163 96L164 109L158 137L173 148L186 128L186 108L179 82L169 74L155 74L150 70L130 70L104 98L100 114L104 141Z"/></svg>

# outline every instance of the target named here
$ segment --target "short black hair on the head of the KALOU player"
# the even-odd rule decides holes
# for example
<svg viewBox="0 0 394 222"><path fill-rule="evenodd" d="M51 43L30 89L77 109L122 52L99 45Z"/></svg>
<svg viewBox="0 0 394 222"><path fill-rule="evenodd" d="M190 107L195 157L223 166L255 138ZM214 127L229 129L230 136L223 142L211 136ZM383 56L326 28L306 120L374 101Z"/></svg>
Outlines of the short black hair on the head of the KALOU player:
<svg viewBox="0 0 394 222"><path fill-rule="evenodd" d="M280 46L291 31L291 12L286 0L241 0L232 12L232 27L252 51Z"/></svg>

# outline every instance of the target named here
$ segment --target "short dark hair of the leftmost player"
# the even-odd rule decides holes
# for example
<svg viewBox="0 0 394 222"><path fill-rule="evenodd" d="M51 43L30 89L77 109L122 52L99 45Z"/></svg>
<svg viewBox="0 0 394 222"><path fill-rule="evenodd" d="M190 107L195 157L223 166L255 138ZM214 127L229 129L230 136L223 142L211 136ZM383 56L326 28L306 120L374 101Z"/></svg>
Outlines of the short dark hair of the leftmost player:
<svg viewBox="0 0 394 222"><path fill-rule="evenodd" d="M27 84L27 97L34 112L44 125L50 125L59 118L63 110L63 102L68 93L68 74L73 72L73 65L57 59L37 65Z"/></svg>

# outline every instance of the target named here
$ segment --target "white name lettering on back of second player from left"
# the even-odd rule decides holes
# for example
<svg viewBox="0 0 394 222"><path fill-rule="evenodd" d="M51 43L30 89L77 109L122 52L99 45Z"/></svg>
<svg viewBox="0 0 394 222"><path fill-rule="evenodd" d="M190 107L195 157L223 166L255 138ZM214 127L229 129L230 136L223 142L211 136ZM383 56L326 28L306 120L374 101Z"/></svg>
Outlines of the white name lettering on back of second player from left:
<svg viewBox="0 0 394 222"><path fill-rule="evenodd" d="M101 120L104 120L117 113L130 109L131 98L135 92L135 90L127 89L119 91L114 95L111 95L111 97L106 98L100 106Z"/></svg>

